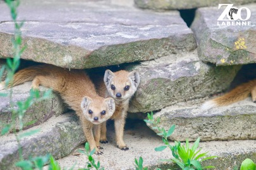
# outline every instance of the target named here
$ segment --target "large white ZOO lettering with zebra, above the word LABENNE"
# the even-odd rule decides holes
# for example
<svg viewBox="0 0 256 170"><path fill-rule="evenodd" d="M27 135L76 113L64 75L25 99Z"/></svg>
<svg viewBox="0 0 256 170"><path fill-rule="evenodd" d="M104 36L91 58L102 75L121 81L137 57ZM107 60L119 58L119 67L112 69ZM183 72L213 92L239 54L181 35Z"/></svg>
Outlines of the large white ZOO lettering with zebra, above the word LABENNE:
<svg viewBox="0 0 256 170"><path fill-rule="evenodd" d="M219 4L219 8L221 8L221 6L226 6L226 8L224 9L224 11L222 11L217 21L247 21L251 17L251 11L247 7L241 7L238 9L233 7L233 4ZM247 12L247 17L245 19L241 17L242 9L245 9ZM224 19L225 17L228 19Z"/></svg>

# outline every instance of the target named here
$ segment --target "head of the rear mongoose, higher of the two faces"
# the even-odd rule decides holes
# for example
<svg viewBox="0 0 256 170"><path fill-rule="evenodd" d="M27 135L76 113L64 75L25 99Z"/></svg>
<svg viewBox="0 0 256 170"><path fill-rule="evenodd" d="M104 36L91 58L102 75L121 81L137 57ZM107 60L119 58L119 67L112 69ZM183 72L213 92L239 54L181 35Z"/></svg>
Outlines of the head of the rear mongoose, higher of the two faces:
<svg viewBox="0 0 256 170"><path fill-rule="evenodd" d="M138 84L140 84L140 76L137 71L112 72L106 70L104 82L110 96L115 100L123 101L130 99L137 91Z"/></svg>

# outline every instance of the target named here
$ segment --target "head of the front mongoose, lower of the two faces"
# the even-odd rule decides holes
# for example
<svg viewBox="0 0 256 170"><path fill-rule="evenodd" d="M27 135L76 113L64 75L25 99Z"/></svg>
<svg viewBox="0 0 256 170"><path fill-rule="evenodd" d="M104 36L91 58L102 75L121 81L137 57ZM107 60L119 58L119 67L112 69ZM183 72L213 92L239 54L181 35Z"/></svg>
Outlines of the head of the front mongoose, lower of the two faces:
<svg viewBox="0 0 256 170"><path fill-rule="evenodd" d="M87 96L83 97L81 108L85 118L98 125L108 120L116 109L113 98L101 98L97 97L91 99Z"/></svg>

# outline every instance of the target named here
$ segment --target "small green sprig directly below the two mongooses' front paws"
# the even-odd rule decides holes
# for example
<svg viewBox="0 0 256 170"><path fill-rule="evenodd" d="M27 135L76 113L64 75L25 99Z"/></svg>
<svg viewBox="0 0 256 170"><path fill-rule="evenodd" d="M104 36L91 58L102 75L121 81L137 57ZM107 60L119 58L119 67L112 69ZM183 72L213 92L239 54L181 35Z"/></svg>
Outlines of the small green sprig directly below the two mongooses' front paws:
<svg viewBox="0 0 256 170"><path fill-rule="evenodd" d="M85 154L85 156L87 156L88 158L87 167L80 170L89 170L93 168L95 168L96 170L104 170L104 167L101 167L101 163L99 161L97 162L97 164L95 163L94 157L92 157L92 155L95 152L95 149L90 151L90 145L88 144L88 142L85 143L85 150L80 149L78 150L78 152L80 152L81 154Z"/></svg>

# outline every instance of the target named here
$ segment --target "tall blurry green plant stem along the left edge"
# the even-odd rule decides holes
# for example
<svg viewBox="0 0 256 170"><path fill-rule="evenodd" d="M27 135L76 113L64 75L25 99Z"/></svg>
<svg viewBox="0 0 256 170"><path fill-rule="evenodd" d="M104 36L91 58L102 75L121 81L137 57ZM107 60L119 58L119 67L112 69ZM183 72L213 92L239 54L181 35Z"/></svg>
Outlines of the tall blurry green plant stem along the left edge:
<svg viewBox="0 0 256 170"><path fill-rule="evenodd" d="M18 69L20 65L20 57L23 51L25 50L25 46L21 47L22 44L22 38L21 38L21 27L23 26L23 22L19 22L16 20L17 18L17 11L16 9L20 5L20 1L11 1L11 0L6 0L6 4L9 7L11 11L11 18L15 23L15 35L13 38L13 57L12 59L6 59L6 65L1 68L0 70L0 76L3 76L3 72L6 69L8 71L7 77L5 79L6 86L8 84L12 84L13 76ZM42 94L42 97L40 96L39 91L37 90L31 90L30 91L30 96L25 100L25 101L18 101L16 103L13 102L13 89L9 88L9 94L6 93L0 93L0 96L8 96L9 95L9 103L11 105L11 123L6 125L2 131L1 135L4 135L9 132L11 129L12 125L15 124L15 120L18 118L19 120L19 127L18 131L20 133L16 132L16 128L13 129L13 132L15 133L16 141L18 142L18 154L20 156L20 161L16 162L16 166L20 167L21 169L42 169L44 164L49 160L50 155L46 156L40 156L40 157L32 157L29 160L24 160L23 155L22 155L22 149L21 149L21 144L20 140L23 139L23 137L27 137L29 135L33 135L34 133L39 132L39 130L31 130L29 132L23 133L23 116L25 115L25 112L27 109L33 105L33 103L49 98L51 95L51 90L46 91L46 93ZM16 108L14 106L17 106Z"/></svg>

